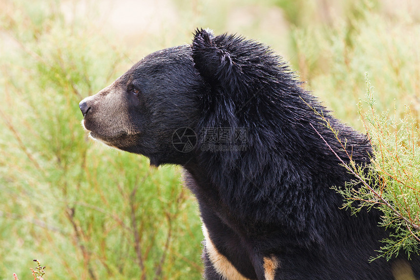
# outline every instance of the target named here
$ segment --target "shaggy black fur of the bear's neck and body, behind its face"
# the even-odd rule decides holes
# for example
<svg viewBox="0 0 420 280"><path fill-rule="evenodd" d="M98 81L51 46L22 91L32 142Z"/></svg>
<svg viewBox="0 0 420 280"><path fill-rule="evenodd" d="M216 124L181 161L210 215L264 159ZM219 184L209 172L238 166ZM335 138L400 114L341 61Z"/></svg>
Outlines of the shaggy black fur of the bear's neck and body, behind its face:
<svg viewBox="0 0 420 280"><path fill-rule="evenodd" d="M393 279L391 261L368 261L386 236L380 213L339 209L342 197L330 188L352 176L311 124L349 159L313 108L357 164L369 162L365 135L333 118L263 44L200 30L192 57L208 92L196 130L249 129L246 151L197 152L185 166L216 247L250 279L263 279L258 264L269 254L280 260L276 279Z"/></svg>

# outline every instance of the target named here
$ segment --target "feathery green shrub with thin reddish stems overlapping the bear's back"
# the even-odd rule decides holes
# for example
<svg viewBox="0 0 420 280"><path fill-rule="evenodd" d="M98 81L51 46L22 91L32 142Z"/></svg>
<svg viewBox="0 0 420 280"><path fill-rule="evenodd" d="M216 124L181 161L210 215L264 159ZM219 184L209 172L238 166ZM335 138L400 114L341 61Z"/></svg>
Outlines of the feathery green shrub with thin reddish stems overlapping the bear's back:
<svg viewBox="0 0 420 280"><path fill-rule="evenodd" d="M403 119L396 114L390 117L387 112L379 114L373 87L368 80L367 84L363 102L368 110L362 114L360 102L359 112L374 156L367 167L356 166L353 161L343 163L357 179L346 183L344 189L334 189L345 197L343 207L354 214L363 207L376 207L384 213L380 225L391 228L391 236L381 240L383 246L375 258L390 259L401 249L410 257L412 253L419 254L420 249L419 127L407 107Z"/></svg>

